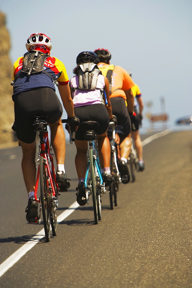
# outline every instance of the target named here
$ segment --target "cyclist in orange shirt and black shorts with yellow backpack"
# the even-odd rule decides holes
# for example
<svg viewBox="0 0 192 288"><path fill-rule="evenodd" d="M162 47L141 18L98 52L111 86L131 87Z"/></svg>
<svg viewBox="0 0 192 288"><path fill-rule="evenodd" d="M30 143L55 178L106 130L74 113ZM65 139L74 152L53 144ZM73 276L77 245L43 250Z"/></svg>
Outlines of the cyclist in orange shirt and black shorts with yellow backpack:
<svg viewBox="0 0 192 288"><path fill-rule="evenodd" d="M100 63L98 64L103 76L106 76L110 84L110 101L112 112L117 117L117 124L120 125L120 161L119 170L123 183L128 183L130 175L128 173L127 158L131 149L131 125L130 117L133 118L134 97L131 87L135 85L131 77L120 66L110 65L111 54L108 50L96 49ZM127 106L126 106L127 103Z"/></svg>

